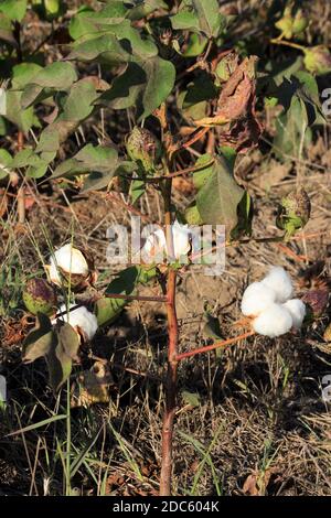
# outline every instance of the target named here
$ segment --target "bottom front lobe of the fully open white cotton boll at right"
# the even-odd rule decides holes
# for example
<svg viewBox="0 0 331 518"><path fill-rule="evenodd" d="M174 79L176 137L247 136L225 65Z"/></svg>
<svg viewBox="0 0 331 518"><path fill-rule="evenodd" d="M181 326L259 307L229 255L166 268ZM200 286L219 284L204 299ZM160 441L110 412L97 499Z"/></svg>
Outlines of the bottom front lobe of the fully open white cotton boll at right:
<svg viewBox="0 0 331 518"><path fill-rule="evenodd" d="M291 314L284 305L271 304L253 321L253 328L259 335L275 338L288 333L292 324Z"/></svg>

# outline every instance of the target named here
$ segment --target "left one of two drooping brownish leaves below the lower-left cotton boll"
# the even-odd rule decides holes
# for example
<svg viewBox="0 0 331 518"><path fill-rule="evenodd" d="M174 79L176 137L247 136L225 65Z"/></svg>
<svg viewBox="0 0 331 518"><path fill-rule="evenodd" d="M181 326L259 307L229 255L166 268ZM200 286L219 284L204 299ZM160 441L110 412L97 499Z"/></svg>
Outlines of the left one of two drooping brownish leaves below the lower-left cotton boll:
<svg viewBox="0 0 331 518"><path fill-rule="evenodd" d="M50 319L39 313L38 323L38 328L31 331L23 343L22 358L25 364L45 356L54 344L55 335Z"/></svg>

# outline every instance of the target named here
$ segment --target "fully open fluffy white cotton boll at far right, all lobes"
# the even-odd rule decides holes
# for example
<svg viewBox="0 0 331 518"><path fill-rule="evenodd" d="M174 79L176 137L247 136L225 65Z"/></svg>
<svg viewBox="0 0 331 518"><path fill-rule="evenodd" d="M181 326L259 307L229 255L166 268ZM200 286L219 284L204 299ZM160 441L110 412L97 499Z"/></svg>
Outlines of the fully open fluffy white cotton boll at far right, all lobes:
<svg viewBox="0 0 331 518"><path fill-rule="evenodd" d="M260 335L275 338L299 330L306 315L306 305L291 299L292 281L281 267L271 267L259 282L247 287L242 300L244 315L254 317L252 326Z"/></svg>

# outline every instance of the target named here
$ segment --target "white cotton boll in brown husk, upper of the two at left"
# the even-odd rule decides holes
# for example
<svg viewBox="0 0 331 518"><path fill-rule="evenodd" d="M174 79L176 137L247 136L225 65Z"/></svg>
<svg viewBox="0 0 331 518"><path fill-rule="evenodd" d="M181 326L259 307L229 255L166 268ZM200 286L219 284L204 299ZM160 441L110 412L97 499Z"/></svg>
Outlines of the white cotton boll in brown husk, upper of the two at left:
<svg viewBox="0 0 331 518"><path fill-rule="evenodd" d="M95 281L92 258L72 244L54 251L50 265L45 266L49 280L58 287L71 285L74 290L86 288Z"/></svg>

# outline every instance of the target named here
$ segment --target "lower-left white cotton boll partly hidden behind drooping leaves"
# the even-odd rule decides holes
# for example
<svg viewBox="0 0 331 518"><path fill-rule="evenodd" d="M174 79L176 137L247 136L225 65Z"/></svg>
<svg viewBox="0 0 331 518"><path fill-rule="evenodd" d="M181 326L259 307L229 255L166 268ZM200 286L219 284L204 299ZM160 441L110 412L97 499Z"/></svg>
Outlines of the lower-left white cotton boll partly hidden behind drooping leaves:
<svg viewBox="0 0 331 518"><path fill-rule="evenodd" d="M84 305L72 310L76 304L62 304L57 311L61 315L52 321L52 324L57 322L67 322L77 333L79 341L89 342L97 332L98 323L94 313L87 310Z"/></svg>

